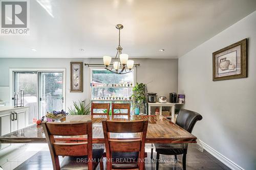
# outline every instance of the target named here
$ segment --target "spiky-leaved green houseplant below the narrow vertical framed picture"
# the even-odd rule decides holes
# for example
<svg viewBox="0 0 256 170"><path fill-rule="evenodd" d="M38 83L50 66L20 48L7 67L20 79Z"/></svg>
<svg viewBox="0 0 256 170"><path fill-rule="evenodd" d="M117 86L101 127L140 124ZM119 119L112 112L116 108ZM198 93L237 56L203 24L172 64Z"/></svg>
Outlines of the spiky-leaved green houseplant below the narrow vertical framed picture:
<svg viewBox="0 0 256 170"><path fill-rule="evenodd" d="M71 106L69 109L69 114L71 115L87 115L91 113L91 103L88 105L84 104L82 101L74 102L74 108Z"/></svg>

